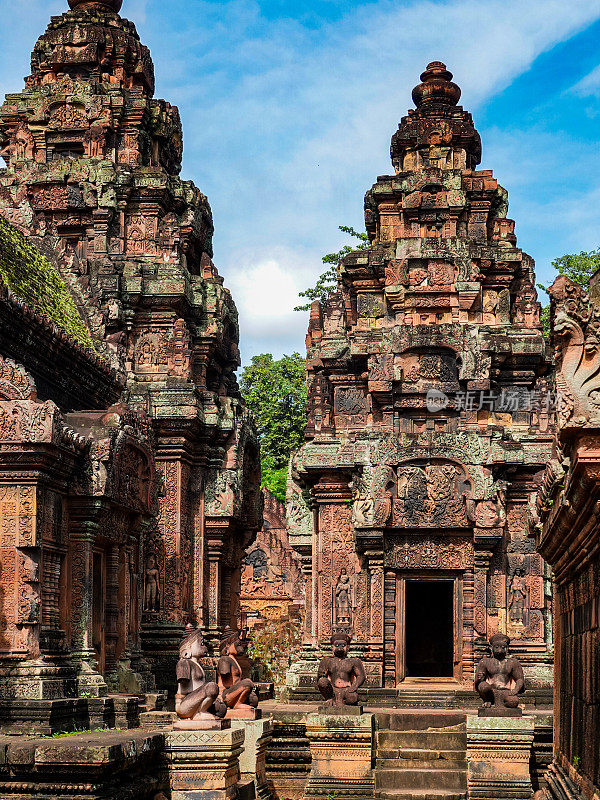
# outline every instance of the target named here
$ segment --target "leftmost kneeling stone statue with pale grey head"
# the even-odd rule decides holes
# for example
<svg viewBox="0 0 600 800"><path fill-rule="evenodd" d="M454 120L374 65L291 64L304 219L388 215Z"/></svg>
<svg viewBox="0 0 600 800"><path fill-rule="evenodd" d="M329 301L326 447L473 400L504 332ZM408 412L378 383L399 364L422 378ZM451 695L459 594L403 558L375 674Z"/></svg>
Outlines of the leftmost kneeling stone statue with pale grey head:
<svg viewBox="0 0 600 800"><path fill-rule="evenodd" d="M214 681L207 682L202 664L198 661L208 655L202 633L191 627L188 626L188 633L179 646L175 695L175 711L179 722L174 725L177 728L210 727L227 711L219 697L219 687Z"/></svg>

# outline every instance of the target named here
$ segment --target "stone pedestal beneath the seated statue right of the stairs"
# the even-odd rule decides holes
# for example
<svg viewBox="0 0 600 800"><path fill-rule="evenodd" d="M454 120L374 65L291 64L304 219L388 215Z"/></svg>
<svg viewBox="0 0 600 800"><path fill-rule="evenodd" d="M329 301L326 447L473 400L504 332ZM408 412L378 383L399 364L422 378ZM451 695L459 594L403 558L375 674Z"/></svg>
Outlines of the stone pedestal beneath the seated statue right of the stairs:
<svg viewBox="0 0 600 800"><path fill-rule="evenodd" d="M467 717L469 800L531 800L534 726L532 716Z"/></svg>

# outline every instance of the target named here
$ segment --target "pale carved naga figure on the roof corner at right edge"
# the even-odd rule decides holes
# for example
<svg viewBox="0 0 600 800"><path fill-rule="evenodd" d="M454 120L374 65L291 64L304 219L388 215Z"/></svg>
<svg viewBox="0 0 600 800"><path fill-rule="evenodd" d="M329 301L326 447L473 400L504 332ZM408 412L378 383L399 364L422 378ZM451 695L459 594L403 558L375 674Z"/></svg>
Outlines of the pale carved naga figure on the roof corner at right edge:
<svg viewBox="0 0 600 800"><path fill-rule="evenodd" d="M553 338L558 366L556 386L560 393L558 419L561 426L572 420L585 425L595 410L596 390L600 388L600 342L590 321L591 309L583 289L560 275L548 290L554 308Z"/></svg>

